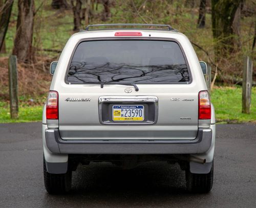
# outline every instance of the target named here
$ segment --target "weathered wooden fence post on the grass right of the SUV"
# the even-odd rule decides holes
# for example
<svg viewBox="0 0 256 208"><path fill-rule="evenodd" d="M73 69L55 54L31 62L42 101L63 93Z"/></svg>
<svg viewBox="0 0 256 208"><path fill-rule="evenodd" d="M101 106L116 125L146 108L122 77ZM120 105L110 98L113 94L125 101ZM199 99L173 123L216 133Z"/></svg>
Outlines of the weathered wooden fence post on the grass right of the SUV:
<svg viewBox="0 0 256 208"><path fill-rule="evenodd" d="M242 113L250 113L252 86L252 60L250 57L244 58L243 70L243 93L242 93Z"/></svg>

